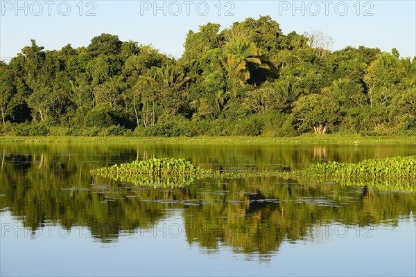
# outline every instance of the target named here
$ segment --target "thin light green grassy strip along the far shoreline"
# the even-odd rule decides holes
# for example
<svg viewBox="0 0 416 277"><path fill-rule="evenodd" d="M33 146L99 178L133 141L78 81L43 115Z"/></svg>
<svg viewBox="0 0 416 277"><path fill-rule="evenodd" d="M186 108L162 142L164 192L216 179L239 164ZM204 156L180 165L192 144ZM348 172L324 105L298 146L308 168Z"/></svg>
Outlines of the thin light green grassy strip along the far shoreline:
<svg viewBox="0 0 416 277"><path fill-rule="evenodd" d="M0 136L1 143L131 143L131 144L207 144L207 145L416 145L416 136L339 136L313 135L287 138L262 136L196 136L196 137L125 137L125 136Z"/></svg>

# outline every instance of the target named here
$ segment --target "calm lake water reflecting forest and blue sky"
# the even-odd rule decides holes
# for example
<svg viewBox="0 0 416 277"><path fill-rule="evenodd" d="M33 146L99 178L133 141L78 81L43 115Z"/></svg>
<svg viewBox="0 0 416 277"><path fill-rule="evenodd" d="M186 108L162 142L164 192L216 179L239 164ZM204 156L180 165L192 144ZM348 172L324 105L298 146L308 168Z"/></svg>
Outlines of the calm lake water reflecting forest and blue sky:
<svg viewBox="0 0 416 277"><path fill-rule="evenodd" d="M1 276L415 276L416 193L203 179L93 178L151 157L220 170L416 154L414 145L0 144Z"/></svg>

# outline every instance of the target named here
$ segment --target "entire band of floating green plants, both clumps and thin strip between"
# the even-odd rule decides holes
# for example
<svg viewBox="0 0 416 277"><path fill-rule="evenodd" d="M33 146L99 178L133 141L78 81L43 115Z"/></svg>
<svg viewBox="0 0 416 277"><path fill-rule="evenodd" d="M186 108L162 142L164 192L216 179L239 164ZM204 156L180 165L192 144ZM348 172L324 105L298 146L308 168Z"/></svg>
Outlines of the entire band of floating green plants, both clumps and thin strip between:
<svg viewBox="0 0 416 277"><path fill-rule="evenodd" d="M372 186L388 190L416 190L416 157L387 157L359 163L329 161L294 171L220 172L206 170L184 159L150 159L92 170L93 175L141 186L184 186L196 179L279 177L302 182L336 181L343 186Z"/></svg>

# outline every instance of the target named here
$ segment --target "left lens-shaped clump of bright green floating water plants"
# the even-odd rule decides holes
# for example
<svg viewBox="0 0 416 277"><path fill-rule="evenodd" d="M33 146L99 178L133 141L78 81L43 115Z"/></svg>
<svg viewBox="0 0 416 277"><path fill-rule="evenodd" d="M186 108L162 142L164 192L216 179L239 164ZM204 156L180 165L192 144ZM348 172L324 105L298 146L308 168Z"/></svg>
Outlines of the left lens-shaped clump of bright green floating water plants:
<svg viewBox="0 0 416 277"><path fill-rule="evenodd" d="M133 161L92 170L92 175L128 181L139 186L184 186L195 179L212 175L206 170L184 159L149 159Z"/></svg>

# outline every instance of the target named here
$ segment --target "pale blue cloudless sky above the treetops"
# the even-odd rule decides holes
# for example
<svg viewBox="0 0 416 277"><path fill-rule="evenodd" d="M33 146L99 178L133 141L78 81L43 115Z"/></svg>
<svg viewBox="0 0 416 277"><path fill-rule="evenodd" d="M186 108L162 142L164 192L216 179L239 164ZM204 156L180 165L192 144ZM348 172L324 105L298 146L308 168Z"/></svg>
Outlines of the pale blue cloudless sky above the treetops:
<svg viewBox="0 0 416 277"><path fill-rule="evenodd" d="M416 1L4 1L0 0L0 57L8 62L31 39L46 50L88 46L101 33L152 44L180 57L189 30L208 22L227 28L270 15L284 34L320 30L345 46L397 48L416 55Z"/></svg>

